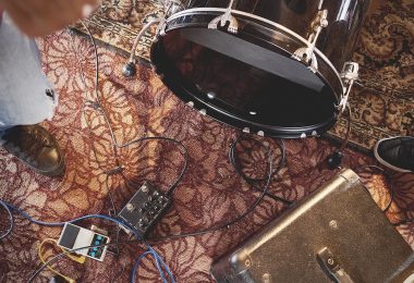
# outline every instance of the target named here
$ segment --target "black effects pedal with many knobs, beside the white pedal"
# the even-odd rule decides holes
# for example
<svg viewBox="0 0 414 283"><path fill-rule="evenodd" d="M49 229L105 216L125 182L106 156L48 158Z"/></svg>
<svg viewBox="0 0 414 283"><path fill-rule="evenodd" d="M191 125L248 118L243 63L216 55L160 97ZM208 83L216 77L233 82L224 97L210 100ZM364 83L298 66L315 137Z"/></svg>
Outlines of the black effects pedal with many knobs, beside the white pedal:
<svg viewBox="0 0 414 283"><path fill-rule="evenodd" d="M145 238L170 206L171 199L166 194L145 182L118 218Z"/></svg>

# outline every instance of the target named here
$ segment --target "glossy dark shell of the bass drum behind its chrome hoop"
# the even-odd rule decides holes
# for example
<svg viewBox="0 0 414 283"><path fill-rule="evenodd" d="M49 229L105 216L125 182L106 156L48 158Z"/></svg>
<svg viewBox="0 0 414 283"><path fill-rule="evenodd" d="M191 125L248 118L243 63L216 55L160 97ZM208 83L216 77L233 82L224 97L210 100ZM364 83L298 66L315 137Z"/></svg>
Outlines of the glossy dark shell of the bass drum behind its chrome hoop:
<svg viewBox="0 0 414 283"><path fill-rule="evenodd" d="M235 0L234 10L270 20L293 30L303 38L309 35L319 0ZM352 58L357 36L364 23L370 0L325 0L321 9L328 10L328 26L324 28L316 47L340 71ZM229 1L183 1L185 9L227 8Z"/></svg>

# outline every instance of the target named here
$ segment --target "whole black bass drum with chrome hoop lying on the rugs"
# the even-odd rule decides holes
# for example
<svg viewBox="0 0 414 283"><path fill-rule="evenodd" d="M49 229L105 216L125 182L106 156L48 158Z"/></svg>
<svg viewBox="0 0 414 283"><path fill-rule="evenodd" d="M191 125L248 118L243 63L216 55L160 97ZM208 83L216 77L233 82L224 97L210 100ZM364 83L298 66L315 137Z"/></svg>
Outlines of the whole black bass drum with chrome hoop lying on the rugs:
<svg viewBox="0 0 414 283"><path fill-rule="evenodd" d="M159 28L151 63L178 97L223 123L283 138L320 135L340 112L337 70L352 57L368 3L190 1Z"/></svg>

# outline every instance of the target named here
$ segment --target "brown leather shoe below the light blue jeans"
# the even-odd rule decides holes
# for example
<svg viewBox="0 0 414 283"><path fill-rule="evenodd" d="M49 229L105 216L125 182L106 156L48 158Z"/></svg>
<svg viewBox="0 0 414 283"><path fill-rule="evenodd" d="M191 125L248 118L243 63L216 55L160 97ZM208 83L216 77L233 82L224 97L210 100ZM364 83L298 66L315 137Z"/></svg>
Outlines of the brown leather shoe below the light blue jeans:
<svg viewBox="0 0 414 283"><path fill-rule="evenodd" d="M37 173L57 176L64 172L64 159L54 137L42 126L13 126L1 137L3 148Z"/></svg>

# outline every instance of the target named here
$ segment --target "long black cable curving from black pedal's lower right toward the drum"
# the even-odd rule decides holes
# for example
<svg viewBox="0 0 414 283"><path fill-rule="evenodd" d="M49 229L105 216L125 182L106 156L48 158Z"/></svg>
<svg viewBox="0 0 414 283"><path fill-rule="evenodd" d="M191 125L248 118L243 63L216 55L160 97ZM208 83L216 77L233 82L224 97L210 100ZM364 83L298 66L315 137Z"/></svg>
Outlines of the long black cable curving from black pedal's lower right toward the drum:
<svg viewBox="0 0 414 283"><path fill-rule="evenodd" d="M172 235L162 236L162 237L148 238L148 243L163 242L163 241L173 239L173 238L198 236L198 235L203 235L203 234L212 233L212 232L216 232L216 231L219 231L219 230L222 230L222 229L229 229L234 223L236 223L236 222L241 221L242 219L244 219L247 214L249 214L260 204L260 201L263 200L263 198L265 197L266 193L269 189L270 181L271 181L273 174L278 172L278 171L273 171L272 155L271 153L268 153L268 155L269 155L269 174L268 174L268 177L266 180L265 188L263 189L261 195L242 214L238 216L236 218L234 218L233 220L231 220L229 222L226 222L223 224L219 224L217 226L212 226L212 227L208 227L208 229L205 229L205 230L200 230L200 231L196 231L196 232L191 232L191 233L172 234ZM283 156L284 156L284 153L283 153ZM281 167L279 165L279 170L280 170L280 168Z"/></svg>

